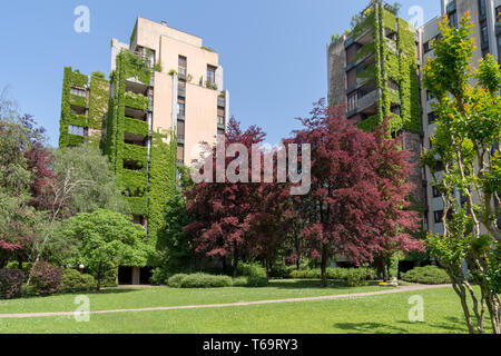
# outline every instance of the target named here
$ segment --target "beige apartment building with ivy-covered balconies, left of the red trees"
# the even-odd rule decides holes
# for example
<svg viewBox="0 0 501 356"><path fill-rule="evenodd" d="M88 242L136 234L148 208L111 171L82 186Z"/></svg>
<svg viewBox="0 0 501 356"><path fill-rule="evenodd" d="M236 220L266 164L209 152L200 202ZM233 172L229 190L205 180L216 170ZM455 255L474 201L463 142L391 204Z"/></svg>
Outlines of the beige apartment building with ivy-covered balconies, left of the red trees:
<svg viewBox="0 0 501 356"><path fill-rule="evenodd" d="M219 55L200 37L144 18L128 43L111 40L109 80L100 72L88 77L65 68L59 145L101 148L135 222L151 241L150 191L161 187L155 187L150 172L164 169L155 166L160 165L156 147L174 145L176 137L178 165L200 159L228 122L223 80ZM132 279L139 280L137 269Z"/></svg>

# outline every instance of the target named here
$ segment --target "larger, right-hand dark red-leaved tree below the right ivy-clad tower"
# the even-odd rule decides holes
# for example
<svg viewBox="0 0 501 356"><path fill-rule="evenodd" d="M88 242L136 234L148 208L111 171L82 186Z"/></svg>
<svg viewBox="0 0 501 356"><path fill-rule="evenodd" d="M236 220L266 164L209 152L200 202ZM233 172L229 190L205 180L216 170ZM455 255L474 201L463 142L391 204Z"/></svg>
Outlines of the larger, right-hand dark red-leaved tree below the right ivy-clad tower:
<svg viewBox="0 0 501 356"><path fill-rule="evenodd" d="M411 186L409 152L386 137L386 121L364 132L344 117L344 108L325 108L321 100L304 129L286 144L312 144L312 189L299 197L305 224L304 247L321 258L322 283L335 254L357 265L397 250L422 249L409 231L415 211L406 210Z"/></svg>

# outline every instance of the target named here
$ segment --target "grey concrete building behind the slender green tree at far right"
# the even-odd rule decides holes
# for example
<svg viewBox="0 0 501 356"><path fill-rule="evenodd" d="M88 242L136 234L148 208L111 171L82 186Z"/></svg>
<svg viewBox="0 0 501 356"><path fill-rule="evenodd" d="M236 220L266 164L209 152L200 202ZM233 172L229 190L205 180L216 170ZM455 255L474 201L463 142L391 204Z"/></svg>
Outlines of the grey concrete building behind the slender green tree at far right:
<svg viewBox="0 0 501 356"><path fill-rule="evenodd" d="M500 61L501 53L501 0L441 0L442 14L438 16L430 22L420 28L421 42L421 61L425 65L430 58L433 58L432 40L435 39L439 32L439 21L443 14L446 14L454 27L459 26L461 17L470 11L473 21L473 36L478 44L472 65L479 66L479 60L491 53ZM423 136L424 148L430 149L430 137L433 135L436 125L434 123L435 116L432 109L434 98L425 90L421 92L421 101L423 103ZM439 174L440 175L440 174ZM443 202L439 191L433 187L433 178L430 170L425 169L426 181L426 200L428 209L425 211L426 230L441 234L443 233L442 216ZM440 176L439 176L440 177ZM456 192L458 200L461 201L461 194ZM462 201L463 202L463 201Z"/></svg>

